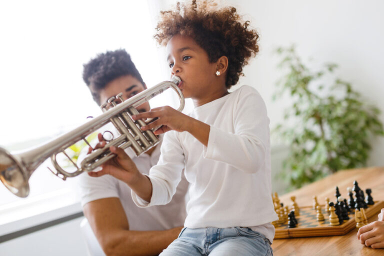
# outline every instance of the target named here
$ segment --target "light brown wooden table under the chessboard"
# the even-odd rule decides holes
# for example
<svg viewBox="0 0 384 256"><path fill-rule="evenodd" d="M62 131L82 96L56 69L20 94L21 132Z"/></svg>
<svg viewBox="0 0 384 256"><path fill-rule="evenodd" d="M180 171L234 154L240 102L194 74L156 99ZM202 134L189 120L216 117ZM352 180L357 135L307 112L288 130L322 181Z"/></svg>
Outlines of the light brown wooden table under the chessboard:
<svg viewBox="0 0 384 256"><path fill-rule="evenodd" d="M325 197L334 201L336 186L342 196L347 198L346 188L353 187L354 180L361 189L371 188L374 200L384 201L384 167L338 171L297 190L279 195L279 198L284 204L290 204L290 196L295 195L299 206L309 206L312 205L312 196L317 195L319 203L323 204ZM368 220L377 220L377 215ZM352 229L347 234L338 236L274 239L273 255L384 255L384 249L372 249L361 244L356 238L356 233L357 230Z"/></svg>

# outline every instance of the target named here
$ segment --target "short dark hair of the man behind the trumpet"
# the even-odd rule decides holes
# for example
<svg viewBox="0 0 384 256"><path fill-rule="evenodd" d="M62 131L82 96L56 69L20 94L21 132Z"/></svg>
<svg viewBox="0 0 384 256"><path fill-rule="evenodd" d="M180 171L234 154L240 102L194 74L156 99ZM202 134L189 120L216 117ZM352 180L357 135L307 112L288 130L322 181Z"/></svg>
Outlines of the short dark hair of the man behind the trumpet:
<svg viewBox="0 0 384 256"><path fill-rule="evenodd" d="M88 87L92 84L96 90L103 89L107 83L124 75L132 75L144 84L130 55L124 49L100 53L83 66L82 79ZM100 104L98 93L92 92L92 97Z"/></svg>

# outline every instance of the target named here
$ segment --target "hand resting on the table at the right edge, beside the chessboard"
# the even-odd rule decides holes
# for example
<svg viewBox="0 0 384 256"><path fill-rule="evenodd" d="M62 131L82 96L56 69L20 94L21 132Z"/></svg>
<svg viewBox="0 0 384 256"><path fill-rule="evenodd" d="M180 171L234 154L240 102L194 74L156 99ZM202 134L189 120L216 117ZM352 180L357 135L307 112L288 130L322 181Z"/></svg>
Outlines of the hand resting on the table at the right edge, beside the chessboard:
<svg viewBox="0 0 384 256"><path fill-rule="evenodd" d="M360 227L357 231L357 239L366 246L384 248L384 221L373 221Z"/></svg>

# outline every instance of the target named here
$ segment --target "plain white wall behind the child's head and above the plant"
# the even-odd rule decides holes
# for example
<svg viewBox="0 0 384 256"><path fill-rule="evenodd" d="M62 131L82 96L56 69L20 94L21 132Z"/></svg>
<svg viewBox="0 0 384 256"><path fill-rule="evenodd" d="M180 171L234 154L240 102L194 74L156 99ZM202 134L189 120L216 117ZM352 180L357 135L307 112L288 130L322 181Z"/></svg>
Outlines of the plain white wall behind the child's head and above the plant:
<svg viewBox="0 0 384 256"><path fill-rule="evenodd" d="M223 0L245 14L260 33L258 56L244 68L239 84L249 84L262 94L271 126L282 121L287 102L272 102L277 46L297 45L311 66L325 62L339 65L336 74L349 81L363 98L384 111L384 1L381 0ZM317 63L315 64L314 61ZM380 119L384 122L384 113ZM273 141L272 141L273 143ZM384 138L372 141L368 165L384 165Z"/></svg>

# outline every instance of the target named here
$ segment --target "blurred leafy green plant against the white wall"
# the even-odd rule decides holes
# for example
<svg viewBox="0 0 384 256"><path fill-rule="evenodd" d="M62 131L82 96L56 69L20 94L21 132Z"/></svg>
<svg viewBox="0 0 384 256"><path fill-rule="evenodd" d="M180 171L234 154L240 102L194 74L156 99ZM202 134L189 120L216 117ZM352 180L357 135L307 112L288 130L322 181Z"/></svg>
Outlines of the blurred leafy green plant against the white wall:
<svg viewBox="0 0 384 256"><path fill-rule="evenodd" d="M300 187L340 169L364 166L374 135L384 135L380 110L366 104L350 83L335 78L335 64L313 71L295 47L276 50L286 71L276 83L276 100L288 93L291 105L274 129L289 145L283 177Z"/></svg>

